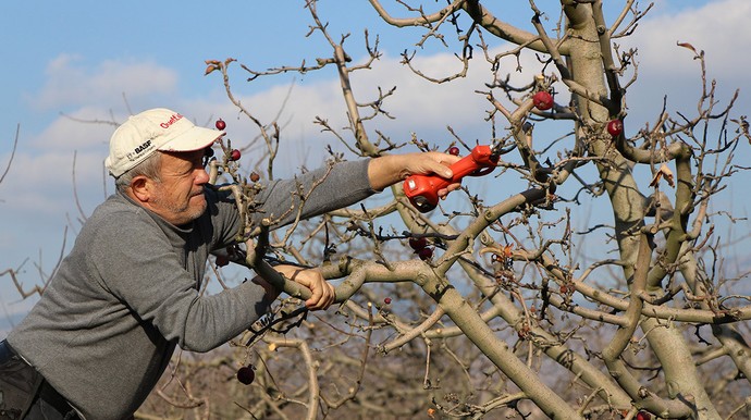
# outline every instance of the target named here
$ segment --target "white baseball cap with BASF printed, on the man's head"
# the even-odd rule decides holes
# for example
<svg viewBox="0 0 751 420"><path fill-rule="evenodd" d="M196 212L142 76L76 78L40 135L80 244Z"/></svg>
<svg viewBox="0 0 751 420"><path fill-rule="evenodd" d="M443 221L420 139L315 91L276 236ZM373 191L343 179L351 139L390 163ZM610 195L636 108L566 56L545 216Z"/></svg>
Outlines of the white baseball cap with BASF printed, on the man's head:
<svg viewBox="0 0 751 420"><path fill-rule="evenodd" d="M132 115L110 138L104 165L118 177L157 150L195 151L211 146L224 132L198 127L178 112L156 108Z"/></svg>

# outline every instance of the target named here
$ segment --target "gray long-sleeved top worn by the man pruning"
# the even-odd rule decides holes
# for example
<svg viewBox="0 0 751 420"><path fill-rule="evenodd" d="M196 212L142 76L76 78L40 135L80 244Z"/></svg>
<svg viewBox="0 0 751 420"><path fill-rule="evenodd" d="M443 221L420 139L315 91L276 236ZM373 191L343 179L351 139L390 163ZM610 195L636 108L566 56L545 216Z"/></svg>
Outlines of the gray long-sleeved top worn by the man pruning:
<svg viewBox="0 0 751 420"><path fill-rule="evenodd" d="M355 203L374 192L368 161L336 164L307 198L303 218ZM299 207L319 170L276 181L257 197L261 218ZM199 295L209 252L230 245L239 226L234 203L206 192L208 209L177 227L115 194L86 221L30 313L8 342L89 420L122 419L141 405L180 346L208 351L267 310L263 288L246 282Z"/></svg>

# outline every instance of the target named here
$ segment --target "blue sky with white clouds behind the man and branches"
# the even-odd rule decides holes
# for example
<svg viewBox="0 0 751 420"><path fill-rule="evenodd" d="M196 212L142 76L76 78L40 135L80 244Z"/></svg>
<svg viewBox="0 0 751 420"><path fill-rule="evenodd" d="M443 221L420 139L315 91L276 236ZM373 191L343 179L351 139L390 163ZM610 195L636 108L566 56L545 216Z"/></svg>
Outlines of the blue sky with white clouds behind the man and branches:
<svg viewBox="0 0 751 420"><path fill-rule="evenodd" d="M615 3L620 2L606 1L608 7ZM747 0L656 3L633 39L640 47L642 66L640 83L629 96L629 118L639 124L653 119L665 95L675 108L695 110L698 65L685 49L676 47L677 41L706 51L710 76L719 82L721 100L729 98L735 88L748 86L751 7ZM41 261L42 270L51 270L64 240L65 251L70 250L81 212L90 213L112 192L102 170L112 126L67 116L122 121L131 111L168 107L199 124L222 116L230 124L231 138L250 139L256 132L236 119L220 77L204 76L204 61L232 57L263 70L295 65L303 59L310 63L329 54L320 36L305 38L310 16L303 4L292 0L4 2L0 12L0 54L5 58L0 67L0 170L10 158L19 124L21 133L13 165L0 184L0 271L26 260L22 280L35 284L39 275L34 263ZM502 17L531 30L528 4L506 1ZM384 58L355 83L364 96L372 95L376 85L397 86L398 98L390 108L397 119L372 128L404 139L410 132L446 138L447 124L467 136L488 135L475 128L487 108L472 94L482 88L477 78L434 89L416 82L398 65L398 53L415 49L416 32L385 26L366 1L323 0L319 11L334 36L352 33L345 47L355 60L364 57L362 29L380 35ZM551 20L556 18L553 13ZM420 51L419 64L428 71L452 69L452 60L451 54L429 45ZM294 147L286 150L281 163L291 170L319 164L320 155L311 151L334 140L322 138L312 118L324 115L343 124L335 73L285 75L251 84L244 82L239 66L232 74L244 103L267 119L279 111L286 91L293 89L294 99L284 109L282 121ZM748 114L748 95L741 90L740 114ZM72 182L74 153L77 201ZM748 157L748 149L739 155ZM747 198L734 196L732 190L731 186L727 206L747 215ZM748 225L742 227L748 231ZM0 320L3 313L23 313L30 302L20 302L10 279L0 277ZM0 335L2 328L0 321Z"/></svg>

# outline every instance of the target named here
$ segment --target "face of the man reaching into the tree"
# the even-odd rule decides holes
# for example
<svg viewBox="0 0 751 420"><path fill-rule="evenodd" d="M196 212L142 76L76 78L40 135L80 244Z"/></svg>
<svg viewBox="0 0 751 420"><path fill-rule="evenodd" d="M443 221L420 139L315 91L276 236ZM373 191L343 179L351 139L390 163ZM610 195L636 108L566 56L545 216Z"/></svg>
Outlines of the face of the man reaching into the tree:
<svg viewBox="0 0 751 420"><path fill-rule="evenodd" d="M209 174L204 150L162 152L160 182L152 182L149 208L174 225L189 223L206 211L204 185Z"/></svg>

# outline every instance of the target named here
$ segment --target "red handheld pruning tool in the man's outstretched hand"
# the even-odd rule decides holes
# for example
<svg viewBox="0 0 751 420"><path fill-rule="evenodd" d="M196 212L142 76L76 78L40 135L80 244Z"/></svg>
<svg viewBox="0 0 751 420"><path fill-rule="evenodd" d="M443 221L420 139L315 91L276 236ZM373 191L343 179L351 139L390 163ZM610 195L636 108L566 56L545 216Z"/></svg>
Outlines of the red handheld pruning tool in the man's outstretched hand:
<svg viewBox="0 0 751 420"><path fill-rule="evenodd" d="M489 174L497 163L498 157L493 155L490 146L476 146L470 155L450 166L454 173L451 180L439 175L410 175L404 180L404 194L417 210L427 213L438 206L439 189L460 183L465 176Z"/></svg>

